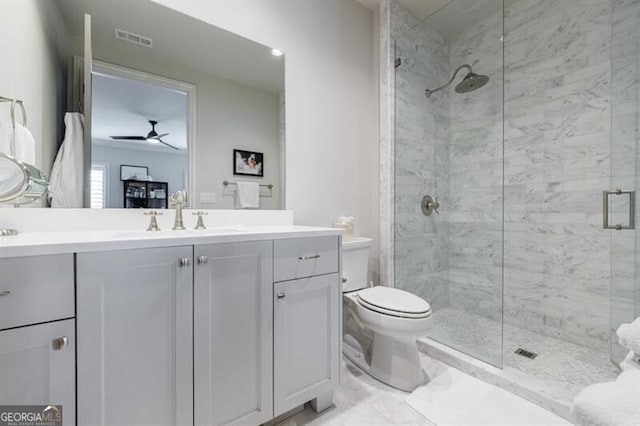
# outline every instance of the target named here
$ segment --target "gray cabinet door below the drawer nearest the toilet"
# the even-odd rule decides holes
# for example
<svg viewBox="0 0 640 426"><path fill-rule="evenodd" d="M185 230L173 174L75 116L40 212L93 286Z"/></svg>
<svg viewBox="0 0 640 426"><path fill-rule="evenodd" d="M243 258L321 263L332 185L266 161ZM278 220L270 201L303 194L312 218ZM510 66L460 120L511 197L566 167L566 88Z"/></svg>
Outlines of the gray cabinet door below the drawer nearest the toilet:
<svg viewBox="0 0 640 426"><path fill-rule="evenodd" d="M274 285L274 415L338 385L338 274Z"/></svg>

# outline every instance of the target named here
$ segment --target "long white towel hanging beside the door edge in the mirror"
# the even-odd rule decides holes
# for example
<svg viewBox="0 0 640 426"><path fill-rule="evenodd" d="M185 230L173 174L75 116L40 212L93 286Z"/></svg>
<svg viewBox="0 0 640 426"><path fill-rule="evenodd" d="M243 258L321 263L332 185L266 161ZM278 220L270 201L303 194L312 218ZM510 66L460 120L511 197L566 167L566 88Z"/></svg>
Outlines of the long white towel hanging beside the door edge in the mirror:
<svg viewBox="0 0 640 426"><path fill-rule="evenodd" d="M51 207L80 208L84 193L84 117L77 112L64 116L64 140L51 168Z"/></svg>

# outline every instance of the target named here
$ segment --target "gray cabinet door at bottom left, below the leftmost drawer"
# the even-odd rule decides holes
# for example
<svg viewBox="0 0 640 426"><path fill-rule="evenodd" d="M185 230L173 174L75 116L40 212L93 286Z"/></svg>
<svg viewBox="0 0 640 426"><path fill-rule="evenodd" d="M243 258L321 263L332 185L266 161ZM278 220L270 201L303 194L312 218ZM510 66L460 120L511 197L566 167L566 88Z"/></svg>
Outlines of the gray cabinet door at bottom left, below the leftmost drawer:
<svg viewBox="0 0 640 426"><path fill-rule="evenodd" d="M0 405L62 405L74 425L75 402L74 320L0 331Z"/></svg>

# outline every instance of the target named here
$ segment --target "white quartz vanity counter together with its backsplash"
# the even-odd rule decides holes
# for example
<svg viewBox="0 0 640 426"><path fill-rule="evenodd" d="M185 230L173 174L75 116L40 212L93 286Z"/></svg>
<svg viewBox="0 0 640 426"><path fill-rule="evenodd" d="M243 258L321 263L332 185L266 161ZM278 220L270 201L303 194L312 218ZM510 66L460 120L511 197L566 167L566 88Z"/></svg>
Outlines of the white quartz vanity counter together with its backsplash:
<svg viewBox="0 0 640 426"><path fill-rule="evenodd" d="M162 210L161 231L145 231L142 209L0 209L0 258L127 250L224 242L340 235L341 230L294 225L288 210L204 210L207 229L193 229L195 210L183 211L184 231L172 231L175 212Z"/></svg>

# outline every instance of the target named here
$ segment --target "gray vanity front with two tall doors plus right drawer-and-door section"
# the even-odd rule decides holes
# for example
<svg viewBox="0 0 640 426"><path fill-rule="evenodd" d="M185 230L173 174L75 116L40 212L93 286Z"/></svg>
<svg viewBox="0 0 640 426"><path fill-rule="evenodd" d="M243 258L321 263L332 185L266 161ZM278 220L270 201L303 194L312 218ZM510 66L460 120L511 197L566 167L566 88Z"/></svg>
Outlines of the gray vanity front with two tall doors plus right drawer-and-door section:
<svg viewBox="0 0 640 426"><path fill-rule="evenodd" d="M332 236L77 254L78 422L258 425L308 401L329 407L339 244Z"/></svg>

